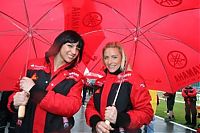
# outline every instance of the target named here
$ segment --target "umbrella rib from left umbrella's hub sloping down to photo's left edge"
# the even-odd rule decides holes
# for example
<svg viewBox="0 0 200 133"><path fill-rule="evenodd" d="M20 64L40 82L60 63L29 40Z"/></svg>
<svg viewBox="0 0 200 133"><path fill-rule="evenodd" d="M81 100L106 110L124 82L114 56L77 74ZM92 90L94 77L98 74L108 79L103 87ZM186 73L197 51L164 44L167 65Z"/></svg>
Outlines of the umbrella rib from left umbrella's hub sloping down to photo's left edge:
<svg viewBox="0 0 200 133"><path fill-rule="evenodd" d="M0 68L0 72L3 70L3 68L5 67L5 65L7 64L7 62L9 61L10 57L14 54L14 52L22 46L22 44L28 39L28 37L26 36L26 34L20 39L20 41L17 43L17 45L15 46L15 48L10 52L10 54L8 55L8 57L6 58L6 60L4 61L3 65Z"/></svg>

